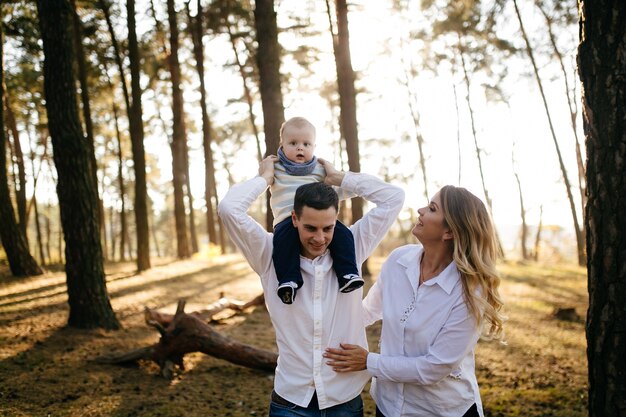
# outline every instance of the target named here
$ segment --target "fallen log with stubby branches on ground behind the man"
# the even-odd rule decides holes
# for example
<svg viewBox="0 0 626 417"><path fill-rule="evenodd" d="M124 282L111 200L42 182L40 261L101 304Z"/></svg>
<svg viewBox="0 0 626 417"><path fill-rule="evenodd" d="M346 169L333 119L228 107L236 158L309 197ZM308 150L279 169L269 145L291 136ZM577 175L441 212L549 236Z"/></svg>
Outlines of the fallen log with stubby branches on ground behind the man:
<svg viewBox="0 0 626 417"><path fill-rule="evenodd" d="M273 372L278 355L246 345L221 335L199 317L184 312L185 301L178 302L176 314L167 327L159 321L151 323L161 333L159 343L121 354L100 356L97 363L129 364L139 360L156 362L161 375L172 379L176 367L184 370L187 353L202 352L228 362L253 369Z"/></svg>

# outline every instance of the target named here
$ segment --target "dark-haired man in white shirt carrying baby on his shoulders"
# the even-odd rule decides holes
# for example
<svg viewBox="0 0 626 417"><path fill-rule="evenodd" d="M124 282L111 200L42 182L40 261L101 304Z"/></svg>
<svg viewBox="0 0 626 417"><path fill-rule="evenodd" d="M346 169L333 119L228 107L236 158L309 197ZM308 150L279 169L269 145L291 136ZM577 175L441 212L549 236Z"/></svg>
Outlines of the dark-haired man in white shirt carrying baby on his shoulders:
<svg viewBox="0 0 626 417"><path fill-rule="evenodd" d="M265 303L276 331L278 366L270 416L362 416L361 391L367 372L337 373L323 366L327 347L351 343L367 347L361 300L363 290L339 292L328 244L337 219L337 194L330 186L362 196L376 205L350 227L359 269L395 221L404 192L371 175L339 172L324 160L324 183L302 186L296 192L293 226L300 237L300 269L304 285L293 304L276 296L278 281L272 262L272 234L247 210L274 181L274 163L268 156L259 175L233 186L218 207L232 240L261 278ZM298 414L296 414L298 413Z"/></svg>

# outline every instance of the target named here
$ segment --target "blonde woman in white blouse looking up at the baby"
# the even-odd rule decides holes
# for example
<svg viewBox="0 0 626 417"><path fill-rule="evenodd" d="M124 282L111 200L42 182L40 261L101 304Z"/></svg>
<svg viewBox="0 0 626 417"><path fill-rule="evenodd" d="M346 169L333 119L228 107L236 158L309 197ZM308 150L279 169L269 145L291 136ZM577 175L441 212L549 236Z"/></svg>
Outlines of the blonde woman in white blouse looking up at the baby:
<svg viewBox="0 0 626 417"><path fill-rule="evenodd" d="M502 332L494 227L454 186L418 213L421 245L393 251L363 300L366 324L383 320L381 353L342 344L325 357L336 372L369 371L377 416L482 417L474 348Z"/></svg>

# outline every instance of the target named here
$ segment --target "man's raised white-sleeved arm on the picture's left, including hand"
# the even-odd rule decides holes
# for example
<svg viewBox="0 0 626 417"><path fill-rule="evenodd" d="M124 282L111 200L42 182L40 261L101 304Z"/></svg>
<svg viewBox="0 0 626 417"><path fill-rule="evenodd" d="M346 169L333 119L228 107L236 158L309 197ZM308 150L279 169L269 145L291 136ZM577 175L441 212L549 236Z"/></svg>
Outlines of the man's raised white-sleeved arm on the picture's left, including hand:
<svg viewBox="0 0 626 417"><path fill-rule="evenodd" d="M272 260L272 235L248 215L252 203L274 181L274 162L270 155L259 164L259 175L236 184L228 190L217 207L217 213L231 239L252 269L264 276Z"/></svg>

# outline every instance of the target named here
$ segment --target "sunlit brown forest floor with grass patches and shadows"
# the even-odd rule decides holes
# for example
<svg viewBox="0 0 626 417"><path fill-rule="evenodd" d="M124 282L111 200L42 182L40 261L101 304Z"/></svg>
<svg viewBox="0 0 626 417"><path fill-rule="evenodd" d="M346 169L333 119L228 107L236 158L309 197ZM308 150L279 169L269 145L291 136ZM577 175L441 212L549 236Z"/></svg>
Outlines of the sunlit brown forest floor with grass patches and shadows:
<svg viewBox="0 0 626 417"><path fill-rule="evenodd" d="M261 293L257 276L236 255L153 263L142 274L133 263L106 266L120 331L65 327L63 272L14 279L0 266L0 416L267 415L273 385L268 373L200 353L187 355L185 372L172 381L161 377L154 363L92 362L158 341L158 333L144 323L144 306L173 313L177 301L186 299L191 312L217 301L220 292L245 301ZM377 272L380 259L372 259L370 268ZM586 416L585 270L516 263L504 263L500 270L508 344L481 341L476 350L485 415ZM574 307L581 318L557 319L558 307ZM238 341L276 349L263 306L235 316L225 313L215 328ZM379 334L379 325L368 329L372 348ZM367 389L365 415L373 416Z"/></svg>

